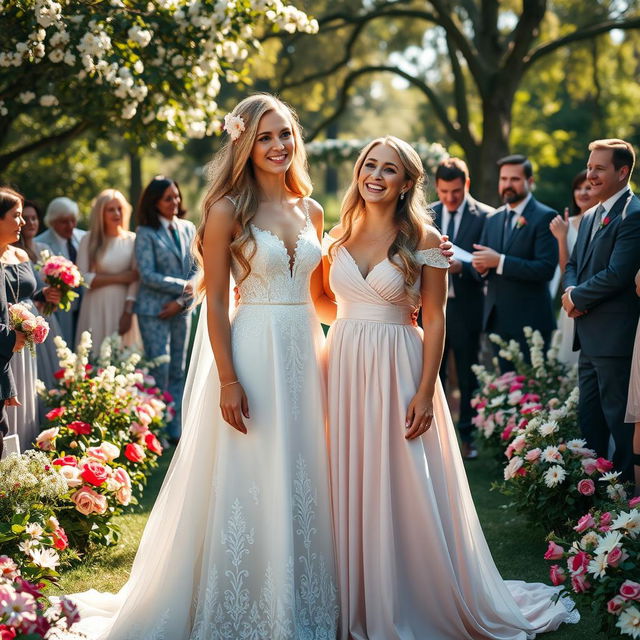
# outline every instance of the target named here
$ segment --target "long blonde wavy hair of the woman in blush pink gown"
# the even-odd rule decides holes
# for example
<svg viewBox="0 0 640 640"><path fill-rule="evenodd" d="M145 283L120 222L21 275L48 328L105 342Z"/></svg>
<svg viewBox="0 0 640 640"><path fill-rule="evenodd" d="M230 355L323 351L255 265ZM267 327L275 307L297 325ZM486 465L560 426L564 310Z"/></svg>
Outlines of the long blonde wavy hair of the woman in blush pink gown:
<svg viewBox="0 0 640 640"><path fill-rule="evenodd" d="M400 138L395 136L376 138L360 152L353 168L351 184L340 207L342 235L329 247L329 257L332 259L338 247L349 240L353 233L354 223L365 215L365 202L360 195L358 177L367 156L374 147L380 144L391 147L398 154L405 178L412 183L411 187L405 191L404 198L398 198L396 203L395 222L398 226L398 232L389 247L387 257L391 264L402 273L405 290L411 298L414 298L412 287L416 283L421 269L415 251L420 245L425 227L432 224L432 218L429 215L429 207L424 195L425 173L422 160L415 149ZM395 256L400 259L399 262L393 259Z"/></svg>

